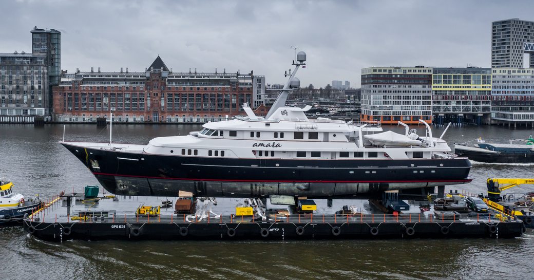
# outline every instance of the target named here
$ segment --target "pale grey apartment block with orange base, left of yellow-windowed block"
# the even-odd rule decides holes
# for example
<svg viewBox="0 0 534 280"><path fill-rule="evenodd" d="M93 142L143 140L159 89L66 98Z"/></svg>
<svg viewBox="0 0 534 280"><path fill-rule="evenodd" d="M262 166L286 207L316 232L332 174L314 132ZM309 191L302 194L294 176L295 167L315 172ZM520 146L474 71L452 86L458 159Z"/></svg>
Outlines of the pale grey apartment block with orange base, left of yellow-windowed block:
<svg viewBox="0 0 534 280"><path fill-rule="evenodd" d="M396 124L432 122L432 68L362 69L362 120Z"/></svg>

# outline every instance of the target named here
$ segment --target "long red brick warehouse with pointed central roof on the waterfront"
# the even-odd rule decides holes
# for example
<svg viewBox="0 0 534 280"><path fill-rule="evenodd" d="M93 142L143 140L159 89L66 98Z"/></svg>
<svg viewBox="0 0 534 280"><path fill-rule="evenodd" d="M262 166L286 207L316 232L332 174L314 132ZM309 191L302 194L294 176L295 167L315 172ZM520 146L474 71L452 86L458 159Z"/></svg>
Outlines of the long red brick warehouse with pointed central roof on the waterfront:
<svg viewBox="0 0 534 280"><path fill-rule="evenodd" d="M238 73L174 73L158 56L145 72L80 72L61 75L53 87L55 121L207 122L244 114L241 105L256 107L265 77ZM262 98L263 99L263 98ZM263 115L265 112L257 112Z"/></svg>

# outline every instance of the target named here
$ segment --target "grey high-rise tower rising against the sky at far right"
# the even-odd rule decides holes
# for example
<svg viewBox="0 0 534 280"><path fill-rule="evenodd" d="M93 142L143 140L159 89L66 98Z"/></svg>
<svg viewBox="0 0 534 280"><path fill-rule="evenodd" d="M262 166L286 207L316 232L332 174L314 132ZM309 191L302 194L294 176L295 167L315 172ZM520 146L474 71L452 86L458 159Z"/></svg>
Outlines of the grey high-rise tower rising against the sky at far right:
<svg viewBox="0 0 534 280"><path fill-rule="evenodd" d="M534 67L534 22L520 19L491 24L491 67L523 68L523 55L530 54Z"/></svg>

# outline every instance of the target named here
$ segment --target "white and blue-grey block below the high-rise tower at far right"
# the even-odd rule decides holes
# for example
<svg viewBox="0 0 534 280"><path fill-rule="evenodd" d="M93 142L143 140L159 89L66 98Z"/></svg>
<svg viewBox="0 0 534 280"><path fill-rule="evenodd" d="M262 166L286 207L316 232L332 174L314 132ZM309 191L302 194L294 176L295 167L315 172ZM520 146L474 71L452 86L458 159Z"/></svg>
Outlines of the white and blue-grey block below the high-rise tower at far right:
<svg viewBox="0 0 534 280"><path fill-rule="evenodd" d="M491 121L534 127L534 68L492 69Z"/></svg>

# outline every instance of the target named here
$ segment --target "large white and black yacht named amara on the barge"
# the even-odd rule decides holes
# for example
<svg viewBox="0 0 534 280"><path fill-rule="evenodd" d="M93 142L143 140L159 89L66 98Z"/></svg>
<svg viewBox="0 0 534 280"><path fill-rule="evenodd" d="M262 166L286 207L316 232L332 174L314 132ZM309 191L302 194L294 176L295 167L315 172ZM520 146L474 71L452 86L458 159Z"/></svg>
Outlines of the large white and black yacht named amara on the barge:
<svg viewBox="0 0 534 280"><path fill-rule="evenodd" d="M379 123L310 120L311 109L284 107L300 87L295 70L265 118L247 103L246 116L208 122L185 136L146 145L61 141L109 192L132 196L343 197L471 182L466 157L450 153L442 137L382 131Z"/></svg>

